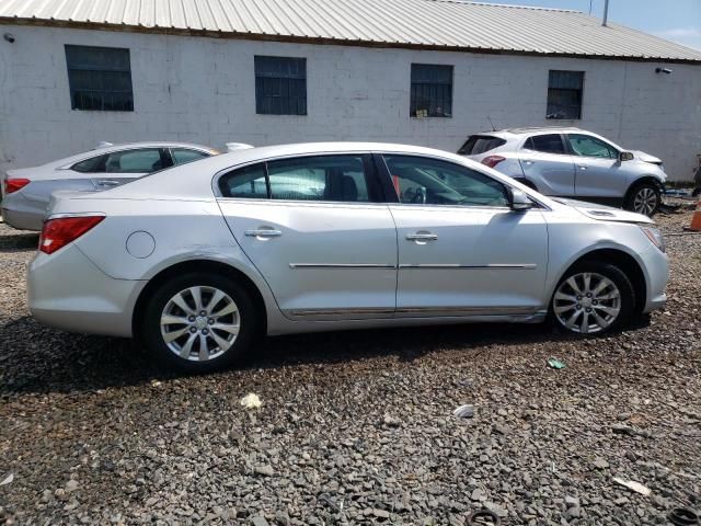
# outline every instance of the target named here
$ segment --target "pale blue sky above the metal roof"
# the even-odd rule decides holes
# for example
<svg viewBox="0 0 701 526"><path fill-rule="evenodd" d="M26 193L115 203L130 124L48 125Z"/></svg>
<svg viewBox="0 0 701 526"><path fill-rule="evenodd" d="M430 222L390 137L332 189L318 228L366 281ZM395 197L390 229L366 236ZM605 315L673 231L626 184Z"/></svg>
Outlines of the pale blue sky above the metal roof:
<svg viewBox="0 0 701 526"><path fill-rule="evenodd" d="M604 16L605 0L484 0L490 3L575 9ZM609 20L701 49L701 0L609 0Z"/></svg>

